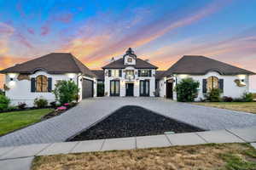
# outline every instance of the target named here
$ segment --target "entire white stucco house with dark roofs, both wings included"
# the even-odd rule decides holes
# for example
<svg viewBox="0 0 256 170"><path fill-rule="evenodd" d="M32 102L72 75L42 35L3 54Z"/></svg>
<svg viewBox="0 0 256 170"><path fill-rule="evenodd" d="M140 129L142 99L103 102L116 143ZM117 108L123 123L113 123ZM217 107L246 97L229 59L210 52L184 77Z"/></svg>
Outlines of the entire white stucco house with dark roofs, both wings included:
<svg viewBox="0 0 256 170"><path fill-rule="evenodd" d="M32 106L34 99L55 100L52 90L59 80L72 80L79 87L79 101L96 97L97 84L104 84L105 96L148 96L177 99L175 86L183 78L200 82L198 97L204 98L212 88L221 88L223 96L241 97L249 92L249 77L255 75L233 65L198 55L185 55L167 71L148 60L137 57L131 48L121 59L112 60L102 70L90 71L72 54L52 53L9 67L5 74L5 94L12 105L25 102Z"/></svg>

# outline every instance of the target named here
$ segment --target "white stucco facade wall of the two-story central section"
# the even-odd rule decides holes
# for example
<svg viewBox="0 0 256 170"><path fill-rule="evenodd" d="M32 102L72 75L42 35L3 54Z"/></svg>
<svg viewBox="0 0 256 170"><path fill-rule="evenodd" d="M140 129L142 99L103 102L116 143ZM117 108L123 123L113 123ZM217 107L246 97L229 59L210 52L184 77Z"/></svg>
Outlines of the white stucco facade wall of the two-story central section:
<svg viewBox="0 0 256 170"><path fill-rule="evenodd" d="M139 87L140 87L140 81L141 80L149 80L149 96L153 97L154 96L154 91L155 91L155 70L151 70L152 71L152 77L138 77L137 74L135 74L135 78L132 79L131 81L129 81L128 79L125 79L125 70L134 70L135 72L137 72L137 69L135 69L132 66L127 66L125 69L122 69L122 77L108 77L108 69L104 70L105 73L105 94L107 94L107 96L110 95L110 81L111 80L119 80L120 82L120 96L124 97L126 95L126 89L125 89L125 83L127 82L131 82L134 83L134 96L138 97L140 96L140 91L139 91Z"/></svg>

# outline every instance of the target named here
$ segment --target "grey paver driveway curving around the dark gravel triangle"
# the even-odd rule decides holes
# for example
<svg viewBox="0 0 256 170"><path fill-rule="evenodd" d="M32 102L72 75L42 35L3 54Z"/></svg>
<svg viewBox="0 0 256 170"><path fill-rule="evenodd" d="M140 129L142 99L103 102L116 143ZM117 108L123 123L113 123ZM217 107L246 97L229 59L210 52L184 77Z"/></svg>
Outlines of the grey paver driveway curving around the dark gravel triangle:
<svg viewBox="0 0 256 170"><path fill-rule="evenodd" d="M63 142L101 121L124 105L139 105L207 130L256 125L256 115L201 105L189 105L160 98L95 98L85 99L61 116L23 128L0 137L0 147L22 144Z"/></svg>

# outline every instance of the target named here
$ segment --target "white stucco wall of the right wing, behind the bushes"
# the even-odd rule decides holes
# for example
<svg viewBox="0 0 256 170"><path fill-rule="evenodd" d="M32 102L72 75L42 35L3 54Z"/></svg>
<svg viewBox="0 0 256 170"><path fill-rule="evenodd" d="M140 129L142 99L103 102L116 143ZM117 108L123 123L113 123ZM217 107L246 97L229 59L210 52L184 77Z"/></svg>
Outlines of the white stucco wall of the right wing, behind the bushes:
<svg viewBox="0 0 256 170"><path fill-rule="evenodd" d="M183 78L191 77L195 81L200 82L200 88L198 91L198 98L195 100L200 100L201 98L204 98L204 94L202 93L202 81L203 79L207 79L207 77L218 77L218 79L224 79L224 93L222 96L229 96L232 98L238 98L241 97L241 95L244 92L249 91L249 78L247 75L235 75L235 76L224 76L220 75L216 71L208 72L206 75L202 76L195 76L195 75L176 75L173 77L174 79L177 79L177 82L180 82ZM236 86L236 83L234 82L236 79L244 79L246 86L244 87L238 87ZM160 97L166 97L166 77L162 78L160 80ZM173 88L175 88L176 82L173 83ZM176 99L176 92L173 91L173 99Z"/></svg>

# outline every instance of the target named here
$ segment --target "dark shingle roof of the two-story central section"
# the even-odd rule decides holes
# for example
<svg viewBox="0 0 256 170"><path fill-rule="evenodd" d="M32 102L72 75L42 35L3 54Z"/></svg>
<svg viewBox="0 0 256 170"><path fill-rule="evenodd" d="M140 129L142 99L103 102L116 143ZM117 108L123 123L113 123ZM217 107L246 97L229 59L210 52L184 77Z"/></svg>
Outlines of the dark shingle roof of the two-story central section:
<svg viewBox="0 0 256 170"><path fill-rule="evenodd" d="M108 65L105 65L102 67L102 69L125 69L129 65L124 65L124 60L123 59L117 59ZM136 59L136 65L131 65L134 66L137 69L157 69L157 66L151 65L147 61L143 59Z"/></svg>

